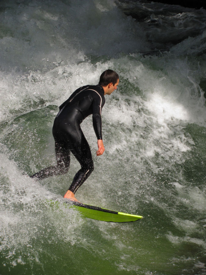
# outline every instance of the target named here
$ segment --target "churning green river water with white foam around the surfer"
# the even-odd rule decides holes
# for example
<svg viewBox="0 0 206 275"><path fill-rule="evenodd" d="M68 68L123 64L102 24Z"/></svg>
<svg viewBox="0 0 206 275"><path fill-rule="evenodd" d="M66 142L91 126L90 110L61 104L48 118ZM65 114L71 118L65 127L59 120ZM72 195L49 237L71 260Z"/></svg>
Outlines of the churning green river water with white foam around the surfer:
<svg viewBox="0 0 206 275"><path fill-rule="evenodd" d="M19 0L0 12L0 274L205 274L205 10ZM89 117L95 171L76 196L135 223L64 206L73 156L66 175L28 177L55 164L58 106L107 68L120 84L102 111L106 150L95 156Z"/></svg>

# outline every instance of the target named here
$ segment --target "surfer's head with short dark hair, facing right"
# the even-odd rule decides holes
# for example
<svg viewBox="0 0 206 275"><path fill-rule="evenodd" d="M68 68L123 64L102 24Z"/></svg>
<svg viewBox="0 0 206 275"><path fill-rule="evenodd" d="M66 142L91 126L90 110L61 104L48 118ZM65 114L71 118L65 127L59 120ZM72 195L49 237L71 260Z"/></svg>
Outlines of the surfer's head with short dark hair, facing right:
<svg viewBox="0 0 206 275"><path fill-rule="evenodd" d="M111 94L114 90L117 89L117 85L119 84L119 75L116 71L106 70L100 75L99 85L101 85L104 89L104 94Z"/></svg>

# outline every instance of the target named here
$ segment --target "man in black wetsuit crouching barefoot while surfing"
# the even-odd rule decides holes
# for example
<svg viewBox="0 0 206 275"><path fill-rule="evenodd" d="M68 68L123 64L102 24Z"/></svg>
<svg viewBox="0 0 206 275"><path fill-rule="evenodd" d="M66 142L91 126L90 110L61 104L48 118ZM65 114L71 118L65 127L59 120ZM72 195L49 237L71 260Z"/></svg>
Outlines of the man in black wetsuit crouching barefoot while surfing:
<svg viewBox="0 0 206 275"><path fill-rule="evenodd" d="M67 173L70 152L72 152L80 163L81 169L74 176L64 198L77 201L74 194L94 170L91 150L80 124L87 116L92 115L98 145L96 155L101 156L104 152L101 120L101 111L105 103L104 95L110 95L117 89L118 84L118 74L109 69L100 75L98 85L82 86L71 94L60 106L52 128L57 165L44 168L30 176L31 178L43 179Z"/></svg>

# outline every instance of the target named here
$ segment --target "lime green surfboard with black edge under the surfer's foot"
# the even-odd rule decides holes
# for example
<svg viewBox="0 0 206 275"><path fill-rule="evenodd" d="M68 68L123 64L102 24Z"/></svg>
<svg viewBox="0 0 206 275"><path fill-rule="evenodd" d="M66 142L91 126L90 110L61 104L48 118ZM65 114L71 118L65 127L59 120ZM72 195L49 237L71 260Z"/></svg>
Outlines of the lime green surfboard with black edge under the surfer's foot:
<svg viewBox="0 0 206 275"><path fill-rule="evenodd" d="M66 201L66 203L71 204L71 207L78 210L86 218L104 222L136 222L143 218L143 216L112 211L93 205L82 204L76 201Z"/></svg>

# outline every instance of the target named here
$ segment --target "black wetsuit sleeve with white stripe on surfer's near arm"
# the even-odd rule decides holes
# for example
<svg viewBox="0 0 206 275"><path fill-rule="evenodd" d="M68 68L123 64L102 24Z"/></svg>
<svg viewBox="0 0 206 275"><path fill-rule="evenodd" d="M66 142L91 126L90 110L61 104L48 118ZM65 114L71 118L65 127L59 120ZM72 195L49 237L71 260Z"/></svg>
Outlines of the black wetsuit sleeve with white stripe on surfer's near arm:
<svg viewBox="0 0 206 275"><path fill-rule="evenodd" d="M97 139L102 139L102 117L101 111L104 102L100 96L93 98L92 102L92 121Z"/></svg>

